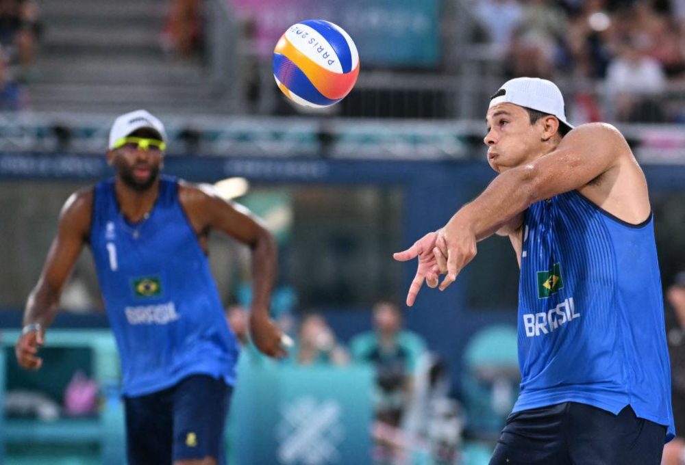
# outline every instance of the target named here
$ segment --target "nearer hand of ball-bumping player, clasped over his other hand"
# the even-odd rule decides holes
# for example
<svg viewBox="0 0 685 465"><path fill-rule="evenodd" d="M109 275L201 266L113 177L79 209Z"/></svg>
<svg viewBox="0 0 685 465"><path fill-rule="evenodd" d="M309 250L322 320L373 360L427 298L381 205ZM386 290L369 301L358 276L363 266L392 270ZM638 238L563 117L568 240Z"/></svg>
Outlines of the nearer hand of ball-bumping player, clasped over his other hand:
<svg viewBox="0 0 685 465"><path fill-rule="evenodd" d="M447 289L457 279L460 271L473 260L477 254L476 242L475 234L460 224L456 216L438 230L433 250L436 261L434 270L437 274L447 274L440 283L440 291Z"/></svg>

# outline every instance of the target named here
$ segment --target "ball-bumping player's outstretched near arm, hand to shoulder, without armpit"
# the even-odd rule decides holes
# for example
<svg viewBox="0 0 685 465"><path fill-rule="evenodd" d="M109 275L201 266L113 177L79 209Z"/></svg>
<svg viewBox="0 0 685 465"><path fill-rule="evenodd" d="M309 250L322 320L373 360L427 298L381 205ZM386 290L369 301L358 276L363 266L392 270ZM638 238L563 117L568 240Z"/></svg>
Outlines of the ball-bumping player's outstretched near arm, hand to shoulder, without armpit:
<svg viewBox="0 0 685 465"><path fill-rule="evenodd" d="M593 123L573 129L549 154L499 174L440 230L436 243L447 257L447 276L440 289L454 282L473 260L477 241L495 233L534 202L580 189L601 174L617 170L621 163L634 163L621 133L609 124Z"/></svg>

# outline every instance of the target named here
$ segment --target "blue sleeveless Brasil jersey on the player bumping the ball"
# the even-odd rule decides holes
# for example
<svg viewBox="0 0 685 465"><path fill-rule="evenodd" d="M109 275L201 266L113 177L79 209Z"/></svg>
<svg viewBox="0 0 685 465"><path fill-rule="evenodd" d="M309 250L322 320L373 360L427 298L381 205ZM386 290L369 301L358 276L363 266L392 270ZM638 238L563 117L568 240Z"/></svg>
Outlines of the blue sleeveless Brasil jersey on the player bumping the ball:
<svg viewBox="0 0 685 465"><path fill-rule="evenodd" d="M627 224L577 191L525 212L514 412L566 401L667 425L671 369L653 217Z"/></svg>

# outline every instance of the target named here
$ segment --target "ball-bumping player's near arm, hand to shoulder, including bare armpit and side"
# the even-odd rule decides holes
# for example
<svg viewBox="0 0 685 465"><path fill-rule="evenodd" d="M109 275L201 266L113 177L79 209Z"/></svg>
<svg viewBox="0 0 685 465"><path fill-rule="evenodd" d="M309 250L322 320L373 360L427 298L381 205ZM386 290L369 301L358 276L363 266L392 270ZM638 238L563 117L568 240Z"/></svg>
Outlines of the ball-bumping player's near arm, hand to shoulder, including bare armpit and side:
<svg viewBox="0 0 685 465"><path fill-rule="evenodd" d="M441 230L447 276L440 289L449 286L473 259L476 241L492 235L530 204L573 189L627 221L639 217L639 222L649 215L645 178L623 136L609 124L584 124L547 155L499 174L480 196L453 215ZM616 211L621 202L626 207Z"/></svg>

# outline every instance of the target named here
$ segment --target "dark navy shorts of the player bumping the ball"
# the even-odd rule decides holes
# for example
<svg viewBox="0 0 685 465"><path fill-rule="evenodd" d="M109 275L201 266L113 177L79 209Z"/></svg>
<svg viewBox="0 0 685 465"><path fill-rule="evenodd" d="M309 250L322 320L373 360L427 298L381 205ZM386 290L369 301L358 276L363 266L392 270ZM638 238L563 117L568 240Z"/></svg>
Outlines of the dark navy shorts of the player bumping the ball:
<svg viewBox="0 0 685 465"><path fill-rule="evenodd" d="M665 439L630 406L614 415L565 402L511 414L490 465L660 465Z"/></svg>

